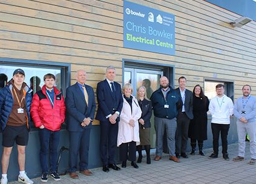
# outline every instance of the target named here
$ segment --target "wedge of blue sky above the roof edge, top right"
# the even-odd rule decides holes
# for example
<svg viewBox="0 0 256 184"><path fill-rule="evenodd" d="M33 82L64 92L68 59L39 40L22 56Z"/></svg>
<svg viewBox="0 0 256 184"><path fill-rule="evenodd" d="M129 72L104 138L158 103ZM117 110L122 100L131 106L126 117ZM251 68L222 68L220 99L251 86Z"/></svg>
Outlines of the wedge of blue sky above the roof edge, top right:
<svg viewBox="0 0 256 184"><path fill-rule="evenodd" d="M256 20L256 0L205 0L226 10Z"/></svg>

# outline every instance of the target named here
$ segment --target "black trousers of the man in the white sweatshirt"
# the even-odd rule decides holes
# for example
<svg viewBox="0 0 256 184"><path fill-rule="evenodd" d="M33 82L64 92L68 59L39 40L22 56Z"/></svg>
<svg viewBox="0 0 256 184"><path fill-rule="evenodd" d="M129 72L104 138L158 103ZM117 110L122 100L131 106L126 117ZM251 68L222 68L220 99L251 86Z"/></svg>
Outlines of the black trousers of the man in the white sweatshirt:
<svg viewBox="0 0 256 184"><path fill-rule="evenodd" d="M222 138L222 154L228 153L228 130L229 124L211 123L214 153L219 153L219 136Z"/></svg>

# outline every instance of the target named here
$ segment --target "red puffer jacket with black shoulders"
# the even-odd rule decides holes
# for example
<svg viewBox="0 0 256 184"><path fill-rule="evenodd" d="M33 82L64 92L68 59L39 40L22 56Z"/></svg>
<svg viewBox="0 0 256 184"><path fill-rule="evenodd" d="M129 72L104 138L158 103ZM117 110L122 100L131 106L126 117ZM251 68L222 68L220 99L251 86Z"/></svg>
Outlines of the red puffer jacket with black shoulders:
<svg viewBox="0 0 256 184"><path fill-rule="evenodd" d="M30 110L34 126L40 127L43 124L46 129L60 130L60 126L65 120L65 111L66 106L62 93L56 87L54 87L53 108L46 94L45 85L43 85L42 90L34 94Z"/></svg>

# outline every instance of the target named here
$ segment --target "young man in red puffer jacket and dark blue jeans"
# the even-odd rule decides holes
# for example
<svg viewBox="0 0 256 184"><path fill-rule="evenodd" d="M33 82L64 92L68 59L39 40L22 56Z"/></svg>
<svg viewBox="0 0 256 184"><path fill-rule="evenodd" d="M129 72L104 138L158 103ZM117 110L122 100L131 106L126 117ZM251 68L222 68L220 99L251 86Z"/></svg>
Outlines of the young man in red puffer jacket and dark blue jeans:
<svg viewBox="0 0 256 184"><path fill-rule="evenodd" d="M51 177L59 181L57 170L57 148L60 140L60 126L65 120L65 103L62 93L54 87L55 76L51 73L43 76L42 90L34 94L31 105L31 117L34 125L39 127L40 163L42 167L42 182L48 181L48 151L50 147Z"/></svg>

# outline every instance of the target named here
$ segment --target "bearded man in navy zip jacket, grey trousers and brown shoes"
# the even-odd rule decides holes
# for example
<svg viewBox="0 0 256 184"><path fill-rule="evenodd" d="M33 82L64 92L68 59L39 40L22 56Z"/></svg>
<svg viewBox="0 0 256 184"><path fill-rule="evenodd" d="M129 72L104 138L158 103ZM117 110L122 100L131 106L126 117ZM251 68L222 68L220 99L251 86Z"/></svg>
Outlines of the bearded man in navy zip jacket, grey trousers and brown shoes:
<svg viewBox="0 0 256 184"><path fill-rule="evenodd" d="M176 132L176 116L178 115L177 107L179 106L179 96L176 91L169 86L167 77L160 78L160 88L156 90L152 96L152 107L155 115L156 130L156 157L155 161L162 158L162 145L164 130L167 133L167 144L169 159L179 162L175 156L175 132Z"/></svg>

